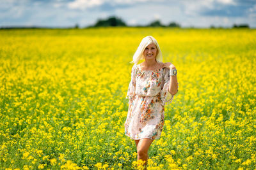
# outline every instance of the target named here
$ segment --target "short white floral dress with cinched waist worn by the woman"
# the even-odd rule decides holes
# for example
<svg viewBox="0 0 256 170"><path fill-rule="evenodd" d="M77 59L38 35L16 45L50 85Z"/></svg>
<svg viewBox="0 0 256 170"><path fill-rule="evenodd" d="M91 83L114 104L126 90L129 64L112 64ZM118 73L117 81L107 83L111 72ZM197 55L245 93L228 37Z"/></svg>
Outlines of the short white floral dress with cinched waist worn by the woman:
<svg viewBox="0 0 256 170"><path fill-rule="evenodd" d="M125 120L125 135L131 139L159 139L164 125L164 105L172 103L168 92L170 69L143 71L140 64L132 67L126 98L129 110Z"/></svg>

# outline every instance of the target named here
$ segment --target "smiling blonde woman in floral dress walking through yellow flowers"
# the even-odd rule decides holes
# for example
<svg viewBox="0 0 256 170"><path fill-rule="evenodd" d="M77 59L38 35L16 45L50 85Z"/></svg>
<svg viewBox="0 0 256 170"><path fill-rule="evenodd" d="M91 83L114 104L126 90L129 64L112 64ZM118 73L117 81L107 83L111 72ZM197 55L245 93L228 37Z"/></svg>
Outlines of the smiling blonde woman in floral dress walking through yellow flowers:
<svg viewBox="0 0 256 170"><path fill-rule="evenodd" d="M154 139L160 138L163 130L164 104L172 102L179 88L175 66L161 62L162 58L156 39L147 36L142 39L132 60L125 135L134 139L138 160L145 160L145 166L148 148ZM144 61L138 64L141 59Z"/></svg>

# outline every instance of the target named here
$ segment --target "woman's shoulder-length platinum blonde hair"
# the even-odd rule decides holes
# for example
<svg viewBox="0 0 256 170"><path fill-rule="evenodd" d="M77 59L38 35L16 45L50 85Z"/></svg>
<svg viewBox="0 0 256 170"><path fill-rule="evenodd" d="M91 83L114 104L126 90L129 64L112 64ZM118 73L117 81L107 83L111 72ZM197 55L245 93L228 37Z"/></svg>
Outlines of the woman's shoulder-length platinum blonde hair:
<svg viewBox="0 0 256 170"><path fill-rule="evenodd" d="M140 45L138 46L138 49L136 50L136 52L133 55L133 60L131 61L131 63L134 63L134 65L138 64L138 62L140 60L144 59L144 55L143 52L145 50L145 48L150 45L151 43L154 43L154 45L156 45L157 48L157 55L156 55L156 61L161 63L163 61L163 56L162 56L162 52L160 50L160 47L156 41L156 39L152 36L146 36L145 38L143 38L140 42Z"/></svg>

